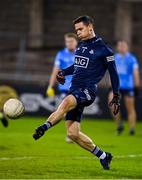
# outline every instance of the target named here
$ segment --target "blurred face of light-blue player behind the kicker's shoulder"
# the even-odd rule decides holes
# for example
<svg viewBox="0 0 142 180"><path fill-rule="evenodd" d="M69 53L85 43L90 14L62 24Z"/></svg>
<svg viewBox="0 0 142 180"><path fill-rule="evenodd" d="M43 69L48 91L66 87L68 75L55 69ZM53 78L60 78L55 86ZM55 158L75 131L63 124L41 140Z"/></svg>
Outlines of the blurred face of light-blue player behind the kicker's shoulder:
<svg viewBox="0 0 142 180"><path fill-rule="evenodd" d="M65 37L65 46L70 51L74 51L77 46L77 40L73 37Z"/></svg>

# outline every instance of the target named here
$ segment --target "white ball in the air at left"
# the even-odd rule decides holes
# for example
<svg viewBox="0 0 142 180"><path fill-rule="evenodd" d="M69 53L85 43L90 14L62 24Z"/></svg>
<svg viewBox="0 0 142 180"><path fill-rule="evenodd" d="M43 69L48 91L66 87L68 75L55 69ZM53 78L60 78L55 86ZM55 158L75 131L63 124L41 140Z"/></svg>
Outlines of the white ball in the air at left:
<svg viewBox="0 0 142 180"><path fill-rule="evenodd" d="M9 99L3 106L4 113L11 119L19 118L24 113L24 105L18 99Z"/></svg>

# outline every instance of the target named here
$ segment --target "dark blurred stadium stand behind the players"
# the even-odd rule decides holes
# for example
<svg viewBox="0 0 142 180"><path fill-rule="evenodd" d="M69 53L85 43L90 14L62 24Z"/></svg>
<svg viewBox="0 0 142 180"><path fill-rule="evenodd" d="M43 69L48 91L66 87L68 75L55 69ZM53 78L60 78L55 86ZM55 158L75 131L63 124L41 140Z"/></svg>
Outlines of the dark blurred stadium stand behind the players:
<svg viewBox="0 0 142 180"><path fill-rule="evenodd" d="M128 41L138 57L142 74L141 0L5 0L0 3L0 84L22 93L45 97L54 57L64 47L63 36L73 32L72 20L88 14L95 19L95 31L115 49L118 39ZM108 76L100 83L99 107L109 118ZM142 119L141 97L136 99ZM123 109L123 108L122 108ZM28 109L27 109L28 112ZM35 112L48 114L44 108ZM34 113L31 113L34 114ZM124 113L125 117L125 113Z"/></svg>

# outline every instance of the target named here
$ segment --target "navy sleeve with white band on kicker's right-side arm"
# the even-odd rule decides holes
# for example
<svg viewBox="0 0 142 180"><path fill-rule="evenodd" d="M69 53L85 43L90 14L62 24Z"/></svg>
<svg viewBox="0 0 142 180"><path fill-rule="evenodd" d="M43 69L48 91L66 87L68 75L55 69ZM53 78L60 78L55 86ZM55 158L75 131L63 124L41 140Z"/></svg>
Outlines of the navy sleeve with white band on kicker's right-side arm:
<svg viewBox="0 0 142 180"><path fill-rule="evenodd" d="M111 49L104 51L104 61L109 71L113 93L119 93L119 77L115 64L114 53Z"/></svg>

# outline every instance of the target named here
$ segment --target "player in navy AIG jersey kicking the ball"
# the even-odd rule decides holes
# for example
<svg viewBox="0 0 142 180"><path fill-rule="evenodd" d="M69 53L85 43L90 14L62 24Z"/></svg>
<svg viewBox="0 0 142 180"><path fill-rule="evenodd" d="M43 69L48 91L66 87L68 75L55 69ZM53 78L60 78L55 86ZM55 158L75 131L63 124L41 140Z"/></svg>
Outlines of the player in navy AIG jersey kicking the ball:
<svg viewBox="0 0 142 180"><path fill-rule="evenodd" d="M94 32L94 20L89 16L81 16L74 20L74 27L81 40L75 52L74 64L58 72L57 80L65 83L65 76L73 75L69 94L63 99L57 110L53 112L45 124L39 126L34 134L35 140L54 127L66 114L68 136L100 159L104 169L110 169L111 153L101 150L81 131L80 122L84 108L91 105L97 93L97 84L108 70L111 77L113 98L110 106L116 115L120 107L119 78L116 71L112 49Z"/></svg>

